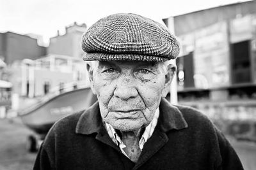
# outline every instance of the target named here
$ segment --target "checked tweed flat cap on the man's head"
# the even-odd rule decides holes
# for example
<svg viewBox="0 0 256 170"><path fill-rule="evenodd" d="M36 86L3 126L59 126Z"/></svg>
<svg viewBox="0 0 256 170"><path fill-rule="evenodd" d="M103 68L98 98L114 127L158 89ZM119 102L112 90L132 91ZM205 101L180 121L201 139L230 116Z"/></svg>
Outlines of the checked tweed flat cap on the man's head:
<svg viewBox="0 0 256 170"><path fill-rule="evenodd" d="M140 15L118 13L84 32L84 60L166 61L179 55L177 38L166 27Z"/></svg>

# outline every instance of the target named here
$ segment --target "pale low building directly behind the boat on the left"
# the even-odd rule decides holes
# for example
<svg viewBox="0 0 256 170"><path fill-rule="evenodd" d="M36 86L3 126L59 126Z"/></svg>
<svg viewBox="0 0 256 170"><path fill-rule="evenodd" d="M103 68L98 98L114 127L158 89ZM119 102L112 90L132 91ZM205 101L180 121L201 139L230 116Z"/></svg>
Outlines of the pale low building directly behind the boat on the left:
<svg viewBox="0 0 256 170"><path fill-rule="evenodd" d="M63 86L88 83L88 75L81 59L65 55L46 55L40 59L24 59L12 66L13 94L21 97L42 97Z"/></svg>

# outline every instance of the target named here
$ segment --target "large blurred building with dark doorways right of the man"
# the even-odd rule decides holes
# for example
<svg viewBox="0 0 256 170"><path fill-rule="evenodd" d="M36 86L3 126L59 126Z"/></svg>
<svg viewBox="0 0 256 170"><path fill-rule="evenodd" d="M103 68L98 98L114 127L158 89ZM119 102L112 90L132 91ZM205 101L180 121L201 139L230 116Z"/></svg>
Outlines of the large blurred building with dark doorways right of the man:
<svg viewBox="0 0 256 170"><path fill-rule="evenodd" d="M256 121L256 1L163 21L182 45L176 60L179 103L216 119Z"/></svg>

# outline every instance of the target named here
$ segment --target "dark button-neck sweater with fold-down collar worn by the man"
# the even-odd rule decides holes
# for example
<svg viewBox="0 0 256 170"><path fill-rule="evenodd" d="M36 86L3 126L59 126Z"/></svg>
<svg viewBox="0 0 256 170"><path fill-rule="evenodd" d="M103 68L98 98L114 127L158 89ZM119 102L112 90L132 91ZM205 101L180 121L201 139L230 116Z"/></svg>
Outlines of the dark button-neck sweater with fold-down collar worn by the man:
<svg viewBox="0 0 256 170"><path fill-rule="evenodd" d="M102 125L99 104L52 127L34 169L243 169L227 139L202 113L162 99L158 124L136 164Z"/></svg>

